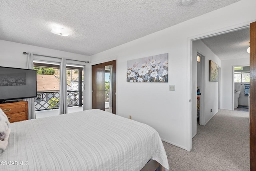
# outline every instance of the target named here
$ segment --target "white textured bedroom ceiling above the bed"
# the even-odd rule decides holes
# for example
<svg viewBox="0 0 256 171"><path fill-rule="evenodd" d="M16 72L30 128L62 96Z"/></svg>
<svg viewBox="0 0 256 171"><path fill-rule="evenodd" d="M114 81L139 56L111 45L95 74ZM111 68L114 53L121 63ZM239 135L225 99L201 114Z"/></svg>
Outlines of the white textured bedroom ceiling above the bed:
<svg viewBox="0 0 256 171"><path fill-rule="evenodd" d="M0 0L0 39L90 56L238 1Z"/></svg>

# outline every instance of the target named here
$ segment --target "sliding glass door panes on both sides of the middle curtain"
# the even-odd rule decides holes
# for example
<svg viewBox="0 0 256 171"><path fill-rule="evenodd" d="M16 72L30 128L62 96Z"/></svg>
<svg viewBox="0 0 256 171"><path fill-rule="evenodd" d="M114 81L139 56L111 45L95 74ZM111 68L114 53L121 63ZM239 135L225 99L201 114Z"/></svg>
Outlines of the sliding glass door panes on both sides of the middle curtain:
<svg viewBox="0 0 256 171"><path fill-rule="evenodd" d="M47 110L59 108L60 97L60 66L58 64L35 63L37 70L37 97L35 109ZM83 99L83 68L66 66L68 107L82 106Z"/></svg>

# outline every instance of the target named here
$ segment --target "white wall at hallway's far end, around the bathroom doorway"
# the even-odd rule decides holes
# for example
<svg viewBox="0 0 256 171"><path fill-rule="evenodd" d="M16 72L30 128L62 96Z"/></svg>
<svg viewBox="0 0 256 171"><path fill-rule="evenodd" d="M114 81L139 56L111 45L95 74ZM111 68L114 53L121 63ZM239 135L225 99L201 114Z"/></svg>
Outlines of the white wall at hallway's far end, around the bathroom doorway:
<svg viewBox="0 0 256 171"><path fill-rule="evenodd" d="M221 109L233 109L233 66L250 65L250 58L221 61Z"/></svg>

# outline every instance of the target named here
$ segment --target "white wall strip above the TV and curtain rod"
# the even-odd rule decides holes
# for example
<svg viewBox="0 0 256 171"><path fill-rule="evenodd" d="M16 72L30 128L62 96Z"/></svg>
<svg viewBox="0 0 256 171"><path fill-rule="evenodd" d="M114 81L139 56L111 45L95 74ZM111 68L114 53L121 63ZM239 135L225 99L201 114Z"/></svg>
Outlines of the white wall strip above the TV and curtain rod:
<svg viewBox="0 0 256 171"><path fill-rule="evenodd" d="M24 55L23 52L32 52L33 54L53 56L53 57L66 58L66 59L72 59L72 60L81 60L81 61L90 60L90 57L80 55L80 54L74 54L74 53L64 52L60 50L53 50L53 49L42 48L38 46L31 46L27 44L20 44L20 43L0 40L0 66L13 67L13 68L26 68L28 55ZM37 57L37 58L41 58L41 57Z"/></svg>

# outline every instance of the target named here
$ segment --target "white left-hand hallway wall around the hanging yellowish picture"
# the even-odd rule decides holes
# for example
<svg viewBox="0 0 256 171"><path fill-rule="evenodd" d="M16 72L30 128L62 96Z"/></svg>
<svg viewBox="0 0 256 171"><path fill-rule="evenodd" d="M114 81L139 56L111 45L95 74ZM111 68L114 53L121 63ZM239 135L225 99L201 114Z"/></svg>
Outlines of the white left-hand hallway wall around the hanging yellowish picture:
<svg viewBox="0 0 256 171"><path fill-rule="evenodd" d="M221 66L221 61L201 40L194 41L192 46L193 54L193 93L192 93L192 135L196 135L196 90L197 90L197 62L196 56L200 53L202 56L202 61L204 61L204 66L202 66L202 73L204 79L201 80L203 83L201 85L201 113L200 117L202 119L202 124L205 125L217 112L218 112L218 82L209 82L209 60L215 62L218 66ZM204 86L204 87L202 87ZM212 109L212 112L211 112Z"/></svg>

